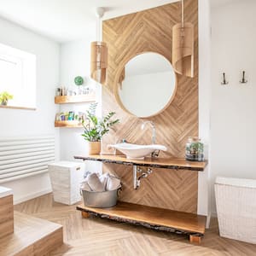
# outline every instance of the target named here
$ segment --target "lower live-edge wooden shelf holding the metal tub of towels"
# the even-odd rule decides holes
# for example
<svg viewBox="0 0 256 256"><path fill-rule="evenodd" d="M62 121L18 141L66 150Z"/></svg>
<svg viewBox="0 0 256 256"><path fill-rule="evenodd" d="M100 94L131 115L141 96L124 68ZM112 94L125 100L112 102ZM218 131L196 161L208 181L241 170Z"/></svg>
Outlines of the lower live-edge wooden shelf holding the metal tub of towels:
<svg viewBox="0 0 256 256"><path fill-rule="evenodd" d="M191 242L200 242L205 234L207 218L205 216L177 212L157 207L147 207L119 201L115 207L92 208L80 205L84 218L92 215L109 218L120 222L139 224L154 230L164 230L177 234L189 235Z"/></svg>

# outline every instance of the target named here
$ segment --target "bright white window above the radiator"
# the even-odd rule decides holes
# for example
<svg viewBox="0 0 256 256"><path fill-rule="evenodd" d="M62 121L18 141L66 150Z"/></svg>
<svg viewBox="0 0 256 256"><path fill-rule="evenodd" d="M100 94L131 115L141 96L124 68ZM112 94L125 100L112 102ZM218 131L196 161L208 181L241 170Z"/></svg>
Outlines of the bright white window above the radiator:
<svg viewBox="0 0 256 256"><path fill-rule="evenodd" d="M36 108L36 55L0 44L0 93L14 98L9 106Z"/></svg>

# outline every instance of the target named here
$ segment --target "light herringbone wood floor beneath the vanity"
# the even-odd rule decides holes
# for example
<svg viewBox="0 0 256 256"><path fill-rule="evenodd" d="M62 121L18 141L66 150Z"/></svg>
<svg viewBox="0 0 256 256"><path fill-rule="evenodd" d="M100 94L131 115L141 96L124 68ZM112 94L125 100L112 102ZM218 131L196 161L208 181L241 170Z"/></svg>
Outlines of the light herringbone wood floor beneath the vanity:
<svg viewBox="0 0 256 256"><path fill-rule="evenodd" d="M51 256L256 255L256 245L218 236L216 219L198 246L190 244L186 236L107 219L81 218L75 206L55 203L51 194L21 203L15 210L63 225L65 244Z"/></svg>

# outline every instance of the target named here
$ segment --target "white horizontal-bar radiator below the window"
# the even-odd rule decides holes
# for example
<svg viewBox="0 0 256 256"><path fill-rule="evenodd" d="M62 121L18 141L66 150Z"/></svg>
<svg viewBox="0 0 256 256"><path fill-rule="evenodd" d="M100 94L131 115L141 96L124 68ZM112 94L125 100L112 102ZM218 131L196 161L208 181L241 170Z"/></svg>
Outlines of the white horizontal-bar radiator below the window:
<svg viewBox="0 0 256 256"><path fill-rule="evenodd" d="M0 137L0 183L48 172L55 137Z"/></svg>

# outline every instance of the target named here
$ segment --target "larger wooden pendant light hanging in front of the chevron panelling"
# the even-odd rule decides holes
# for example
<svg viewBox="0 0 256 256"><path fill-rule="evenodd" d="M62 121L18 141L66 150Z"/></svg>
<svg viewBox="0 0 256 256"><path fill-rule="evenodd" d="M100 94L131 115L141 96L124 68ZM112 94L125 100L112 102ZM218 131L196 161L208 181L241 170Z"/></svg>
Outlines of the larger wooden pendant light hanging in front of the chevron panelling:
<svg viewBox="0 0 256 256"><path fill-rule="evenodd" d="M184 22L184 3L182 4L182 23L172 27L172 66L176 73L194 77L194 25Z"/></svg>

